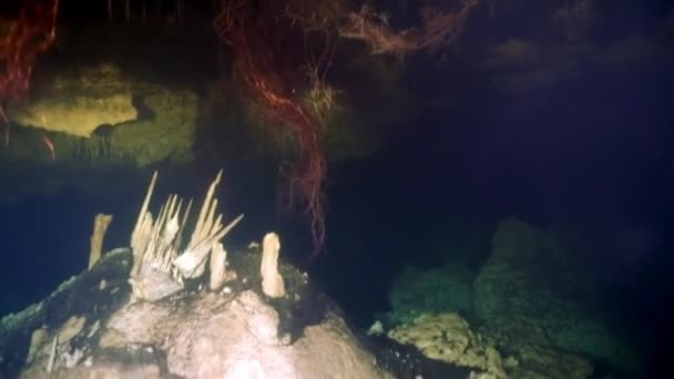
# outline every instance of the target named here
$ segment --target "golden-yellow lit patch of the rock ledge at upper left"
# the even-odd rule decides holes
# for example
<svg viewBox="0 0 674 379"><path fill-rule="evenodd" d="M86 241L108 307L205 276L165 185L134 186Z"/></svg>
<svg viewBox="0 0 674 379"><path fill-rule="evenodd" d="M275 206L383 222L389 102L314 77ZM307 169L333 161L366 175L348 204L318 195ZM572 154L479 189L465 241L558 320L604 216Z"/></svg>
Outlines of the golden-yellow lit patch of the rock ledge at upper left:
<svg viewBox="0 0 674 379"><path fill-rule="evenodd" d="M127 81L111 64L55 75L29 103L11 109L8 116L21 125L90 137L100 125L136 119Z"/></svg>

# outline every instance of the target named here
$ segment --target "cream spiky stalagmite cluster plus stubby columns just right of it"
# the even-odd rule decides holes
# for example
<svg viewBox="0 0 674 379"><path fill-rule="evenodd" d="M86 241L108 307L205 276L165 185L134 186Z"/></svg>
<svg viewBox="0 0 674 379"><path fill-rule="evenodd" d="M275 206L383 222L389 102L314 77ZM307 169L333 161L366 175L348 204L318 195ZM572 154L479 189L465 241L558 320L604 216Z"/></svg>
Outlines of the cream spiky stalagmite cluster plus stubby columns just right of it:
<svg viewBox="0 0 674 379"><path fill-rule="evenodd" d="M137 222L131 235L133 267L129 283L137 300L156 301L184 288L184 279L202 277L208 264L210 288L219 289L227 280L236 277L234 270L227 269L227 252L222 239L243 218L239 215L226 226L217 208L214 196L219 184L222 171L211 183L201 207L192 236L183 246L183 232L186 228L192 201L185 203L177 195L170 195L153 217L147 209L156 182L156 172L152 176ZM263 240L263 260L261 274L263 289L270 297L285 295L283 278L278 274L278 252L280 243L275 233L269 233Z"/></svg>

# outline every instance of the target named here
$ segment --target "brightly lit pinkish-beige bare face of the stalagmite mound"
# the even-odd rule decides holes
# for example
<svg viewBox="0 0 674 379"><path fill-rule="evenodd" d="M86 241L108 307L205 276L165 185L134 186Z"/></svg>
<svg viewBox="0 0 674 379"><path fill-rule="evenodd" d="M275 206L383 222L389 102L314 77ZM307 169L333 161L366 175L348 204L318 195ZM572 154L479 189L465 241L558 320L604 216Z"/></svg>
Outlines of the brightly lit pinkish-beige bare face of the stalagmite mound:
<svg viewBox="0 0 674 379"><path fill-rule="evenodd" d="M261 378L380 377L343 321L309 327L292 346L284 346L277 327L278 314L251 290L205 294L183 307L125 307L109 320L100 346L155 346L165 351L168 371L185 378L238 378L243 372ZM100 370L93 361L89 372Z"/></svg>

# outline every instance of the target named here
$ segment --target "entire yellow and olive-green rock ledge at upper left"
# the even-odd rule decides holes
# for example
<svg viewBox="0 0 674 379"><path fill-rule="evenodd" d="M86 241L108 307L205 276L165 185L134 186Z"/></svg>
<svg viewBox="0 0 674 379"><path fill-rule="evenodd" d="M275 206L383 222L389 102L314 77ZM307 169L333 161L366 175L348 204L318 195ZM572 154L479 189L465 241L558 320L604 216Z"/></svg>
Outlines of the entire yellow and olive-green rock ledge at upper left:
<svg viewBox="0 0 674 379"><path fill-rule="evenodd" d="M0 158L101 166L192 160L198 96L133 78L113 64L45 74ZM53 161L53 162L52 162Z"/></svg>

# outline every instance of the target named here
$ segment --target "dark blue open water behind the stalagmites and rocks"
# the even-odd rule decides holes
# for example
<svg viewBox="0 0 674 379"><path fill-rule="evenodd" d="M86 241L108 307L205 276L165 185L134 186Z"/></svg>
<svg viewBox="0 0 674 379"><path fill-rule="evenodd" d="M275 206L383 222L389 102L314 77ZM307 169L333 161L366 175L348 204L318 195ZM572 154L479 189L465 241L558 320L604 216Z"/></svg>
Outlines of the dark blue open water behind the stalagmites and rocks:
<svg viewBox="0 0 674 379"><path fill-rule="evenodd" d="M439 236L473 234L481 248L461 259L479 269L498 222L514 215L542 229L582 232L583 254L593 253L570 259L583 262L583 274L596 279L598 287L588 288L592 306L647 365L667 361L674 336L674 74L666 63L578 70L583 79L522 96L466 89L452 81L456 75L423 82L417 72L409 85L419 96L431 96L435 86L466 89L460 109L420 112L385 151L330 166L327 249L305 267L355 324L366 327L387 310L390 285L405 265L432 267L446 258L432 244ZM197 158L159 168L155 205L173 192L201 199L223 168L225 217L246 214L229 244L276 229L282 255L306 264L304 219L275 212L274 162ZM102 188L72 185L0 207L0 314L40 300L85 269L96 213L114 215L105 248L127 244L151 170L86 175L81 182Z"/></svg>

